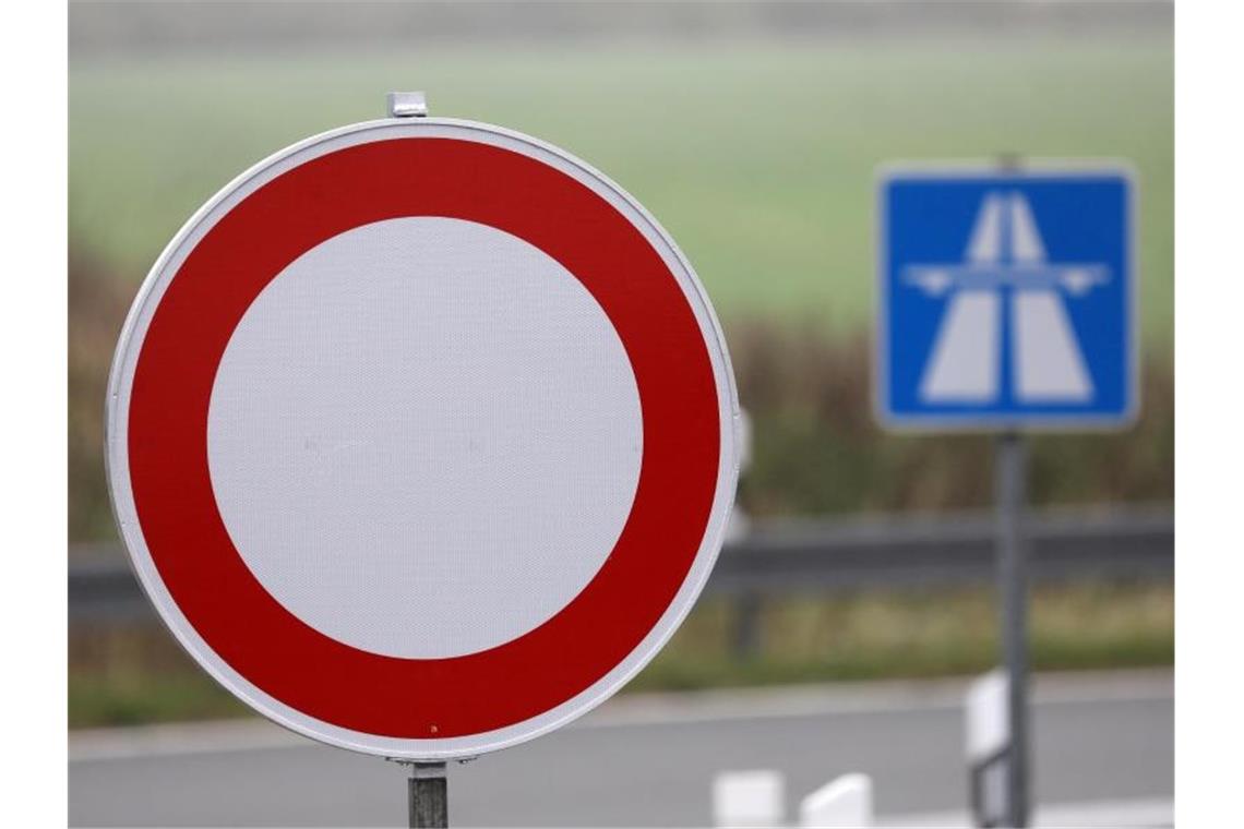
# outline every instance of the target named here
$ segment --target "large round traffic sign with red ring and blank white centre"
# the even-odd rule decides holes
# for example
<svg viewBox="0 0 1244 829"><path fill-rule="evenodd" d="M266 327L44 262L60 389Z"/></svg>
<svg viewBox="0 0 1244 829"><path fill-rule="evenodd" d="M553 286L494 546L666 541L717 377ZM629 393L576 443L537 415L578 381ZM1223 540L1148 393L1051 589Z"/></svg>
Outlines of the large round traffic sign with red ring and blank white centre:
<svg viewBox="0 0 1244 829"><path fill-rule="evenodd" d="M386 119L213 198L134 301L122 537L180 644L310 737L466 757L661 649L722 546L738 401L669 236L573 157Z"/></svg>

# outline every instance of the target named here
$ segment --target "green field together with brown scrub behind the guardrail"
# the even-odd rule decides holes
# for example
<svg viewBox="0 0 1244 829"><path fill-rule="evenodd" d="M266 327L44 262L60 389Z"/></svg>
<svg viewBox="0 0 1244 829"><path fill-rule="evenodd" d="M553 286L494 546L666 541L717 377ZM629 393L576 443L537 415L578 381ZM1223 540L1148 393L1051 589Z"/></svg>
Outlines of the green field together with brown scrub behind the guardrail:
<svg viewBox="0 0 1244 829"><path fill-rule="evenodd" d="M112 347L164 242L223 184L392 88L580 154L687 251L755 426L755 515L980 507L984 437L888 436L870 411L873 173L899 158L1117 157L1141 176L1138 426L1051 436L1037 503L1173 492L1172 48L949 40L455 48L76 62L70 89L70 533L113 537L101 406Z"/></svg>

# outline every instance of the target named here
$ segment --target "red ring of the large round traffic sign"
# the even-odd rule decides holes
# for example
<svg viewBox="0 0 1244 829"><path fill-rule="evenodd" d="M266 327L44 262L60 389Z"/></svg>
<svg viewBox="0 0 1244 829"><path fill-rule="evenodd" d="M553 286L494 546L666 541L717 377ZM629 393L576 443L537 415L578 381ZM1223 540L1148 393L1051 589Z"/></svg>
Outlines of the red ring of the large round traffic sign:
<svg viewBox="0 0 1244 829"><path fill-rule="evenodd" d="M225 346L300 255L360 225L445 216L514 234L591 292L631 359L643 413L634 503L596 577L556 615L449 659L358 650L297 619L238 554L208 471L208 404ZM720 414L713 365L678 281L632 222L521 153L448 138L338 149L282 173L208 231L159 300L134 368L129 477L173 600L238 674L285 705L397 738L484 733L549 711L617 666L664 614L713 506Z"/></svg>

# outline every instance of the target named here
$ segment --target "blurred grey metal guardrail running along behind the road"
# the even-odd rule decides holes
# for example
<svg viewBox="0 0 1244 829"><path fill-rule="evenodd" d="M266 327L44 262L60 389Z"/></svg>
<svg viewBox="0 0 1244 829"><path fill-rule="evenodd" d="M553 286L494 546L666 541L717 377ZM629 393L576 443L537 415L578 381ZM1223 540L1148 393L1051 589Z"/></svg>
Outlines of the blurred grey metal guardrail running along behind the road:
<svg viewBox="0 0 1244 829"><path fill-rule="evenodd" d="M1044 512L1025 521L1034 582L1167 579L1174 572L1169 508ZM119 547L71 548L73 621L153 618ZM957 587L994 578L990 513L758 522L722 551L705 592L763 597L863 588Z"/></svg>

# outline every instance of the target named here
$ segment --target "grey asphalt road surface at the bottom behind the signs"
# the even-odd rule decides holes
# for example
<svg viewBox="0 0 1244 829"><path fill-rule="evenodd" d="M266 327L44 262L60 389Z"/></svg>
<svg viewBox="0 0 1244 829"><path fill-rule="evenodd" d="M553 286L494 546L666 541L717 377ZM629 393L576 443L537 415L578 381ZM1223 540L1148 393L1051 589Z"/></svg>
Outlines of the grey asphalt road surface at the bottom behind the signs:
<svg viewBox="0 0 1244 829"><path fill-rule="evenodd" d="M774 768L787 814L838 774L878 815L965 805L962 681L616 698L554 735L449 771L450 824L710 825L713 777ZM1168 802L1169 674L1042 676L1041 803ZM71 825L404 825L402 768L265 722L77 732Z"/></svg>

